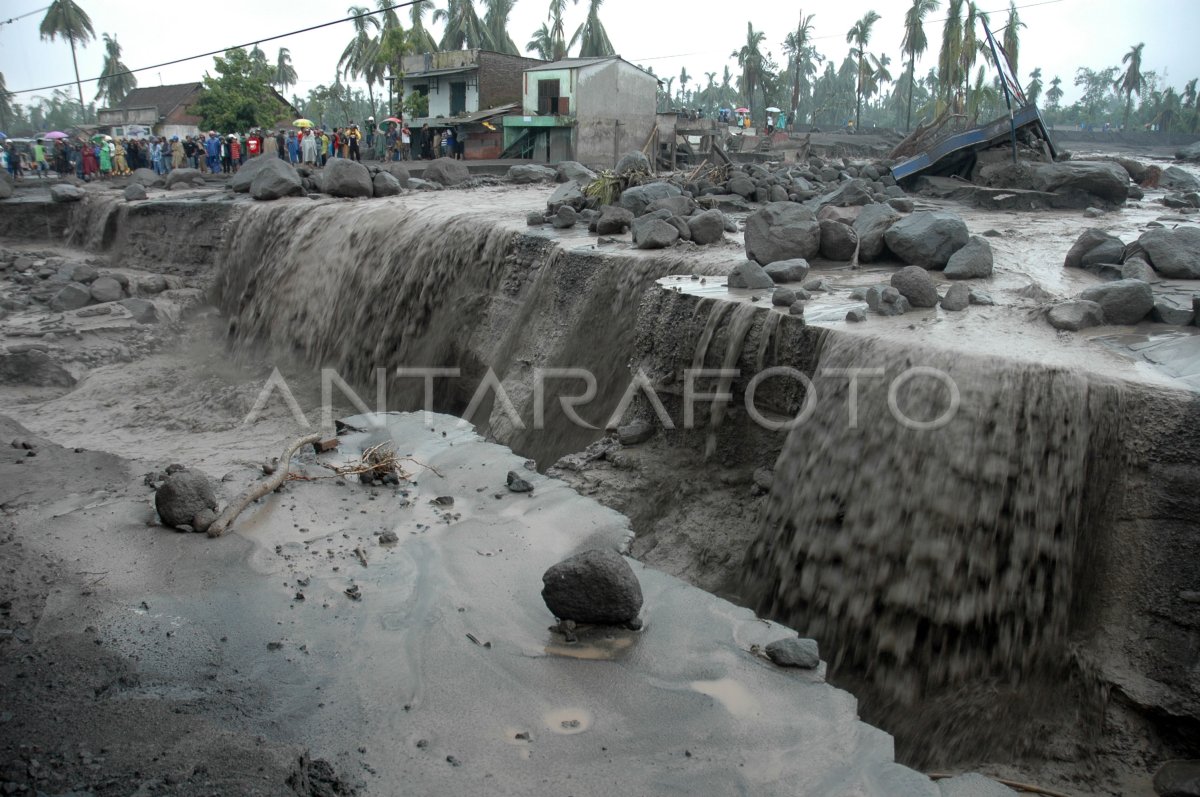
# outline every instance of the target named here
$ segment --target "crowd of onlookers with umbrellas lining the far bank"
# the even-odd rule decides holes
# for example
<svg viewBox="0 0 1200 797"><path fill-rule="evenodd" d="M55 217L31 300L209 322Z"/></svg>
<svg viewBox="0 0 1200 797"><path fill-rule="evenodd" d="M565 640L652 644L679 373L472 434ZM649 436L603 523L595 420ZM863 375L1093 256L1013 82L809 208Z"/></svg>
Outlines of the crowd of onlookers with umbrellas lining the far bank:
<svg viewBox="0 0 1200 797"><path fill-rule="evenodd" d="M462 158L464 131L457 127L431 128L422 125L413 131L401 120L377 126L368 119L364 132L356 124L323 130L264 131L221 134L209 131L198 136L151 136L113 138L95 136L30 143L5 140L0 148L2 166L14 178L74 175L80 180L103 180L131 174L134 169L152 169L169 174L192 168L211 174L233 174L247 158L275 156L293 164L325 166L330 158L361 161L364 151L374 160L416 161L437 157Z"/></svg>

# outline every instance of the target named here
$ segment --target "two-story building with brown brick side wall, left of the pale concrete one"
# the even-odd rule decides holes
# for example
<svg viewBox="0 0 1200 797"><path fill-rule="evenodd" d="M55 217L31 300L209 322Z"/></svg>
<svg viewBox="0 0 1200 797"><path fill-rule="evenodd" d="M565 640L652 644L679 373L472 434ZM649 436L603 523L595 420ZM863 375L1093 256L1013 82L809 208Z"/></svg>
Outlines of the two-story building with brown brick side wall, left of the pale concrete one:
<svg viewBox="0 0 1200 797"><path fill-rule="evenodd" d="M409 126L455 127L464 136L466 157L499 157L503 132L491 120L520 109L524 70L539 64L545 61L484 49L406 55L403 96L419 94L430 103Z"/></svg>

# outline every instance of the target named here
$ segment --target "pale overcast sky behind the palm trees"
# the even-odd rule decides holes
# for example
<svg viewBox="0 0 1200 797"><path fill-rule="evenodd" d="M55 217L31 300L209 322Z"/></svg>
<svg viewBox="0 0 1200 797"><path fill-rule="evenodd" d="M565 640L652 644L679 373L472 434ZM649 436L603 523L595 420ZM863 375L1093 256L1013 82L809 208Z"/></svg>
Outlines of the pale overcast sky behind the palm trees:
<svg viewBox="0 0 1200 797"><path fill-rule="evenodd" d="M116 35L124 48L122 59L131 68L330 22L342 11L341 4L318 0L182 5L144 0L76 1L91 16L97 38L102 32ZM0 17L17 17L47 2L4 0L0 2L4 8ZM436 6L444 5L445 0L436 0ZM548 0L517 0L509 32L522 49L545 20L548 5ZM901 60L904 12L908 5L910 0L605 0L600 18L613 47L625 59L652 66L660 76L678 76L680 67L686 67L689 74L702 82L704 72L720 73L726 64L737 72L737 64L730 53L745 41L746 22L767 34L766 49L782 62L784 36L796 26L802 8L805 13L816 14L815 43L818 50L838 59L846 54L846 31L856 19L874 8L882 19L875 25L868 49L888 53L893 64L898 64ZM481 8L482 4L476 0L476 6ZM982 0L980 7L994 12L994 28L1003 25L1004 0ZM1200 0L1018 0L1018 7L1027 25L1021 31L1019 71L1022 84L1027 82L1030 70L1040 66L1046 83L1055 74L1063 78L1067 102L1078 96L1072 84L1078 66L1099 68L1120 65L1121 56L1139 42L1146 43L1144 68L1165 76L1166 82L1177 89L1200 76L1200 47L1196 47L1195 38L1196 31L1200 31ZM187 12L186 19L181 18L184 11ZM406 14L407 8L401 12ZM70 47L65 42L52 43L38 38L37 28L43 13L0 24L0 72L4 72L10 91L73 79ZM586 13L587 0L569 7L568 36ZM403 18L407 20L407 16ZM936 64L942 19L943 14L938 11L926 22L930 52L918 62L918 73ZM436 37L439 28L433 28ZM263 49L271 60L281 46L292 50L300 77L293 91L304 95L317 84L332 82L338 55L350 34L350 24L344 23L265 43ZM79 52L80 77L86 79L100 74L103 53L102 41L92 42ZM140 72L138 84L198 80L211 65L211 59L198 59ZM894 66L893 74L899 77L899 67ZM91 101L95 95L96 84L84 83L84 98ZM17 101L25 103L31 96L20 94Z"/></svg>

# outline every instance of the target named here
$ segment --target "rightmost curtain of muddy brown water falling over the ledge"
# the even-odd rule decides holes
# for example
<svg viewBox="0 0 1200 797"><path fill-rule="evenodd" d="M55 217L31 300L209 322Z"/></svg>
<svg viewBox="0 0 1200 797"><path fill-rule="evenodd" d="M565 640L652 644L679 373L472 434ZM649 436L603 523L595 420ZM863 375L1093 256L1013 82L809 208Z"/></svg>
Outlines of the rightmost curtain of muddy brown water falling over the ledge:
<svg viewBox="0 0 1200 797"><path fill-rule="evenodd" d="M938 429L898 419L950 409L932 371L904 376L914 365L959 391ZM828 376L836 368L882 368L859 378L854 425L848 378ZM1088 546L1114 505L1122 390L840 334L822 343L815 385L814 412L776 463L746 592L762 613L818 637L835 673L866 684L869 717L898 732L937 717L919 744L986 749L992 729L950 729L928 701L961 718L962 693L1033 695L1050 685L1038 673L1062 671Z"/></svg>

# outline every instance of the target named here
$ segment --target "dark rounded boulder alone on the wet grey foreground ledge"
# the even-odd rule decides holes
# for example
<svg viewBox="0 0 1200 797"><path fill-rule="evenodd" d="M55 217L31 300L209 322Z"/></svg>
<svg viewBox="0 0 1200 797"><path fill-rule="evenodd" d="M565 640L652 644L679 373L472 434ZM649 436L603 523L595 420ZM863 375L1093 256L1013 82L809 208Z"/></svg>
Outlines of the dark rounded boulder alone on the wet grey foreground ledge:
<svg viewBox="0 0 1200 797"><path fill-rule="evenodd" d="M576 553L546 570L541 581L541 598L559 619L624 625L642 611L642 586L614 551Z"/></svg>

